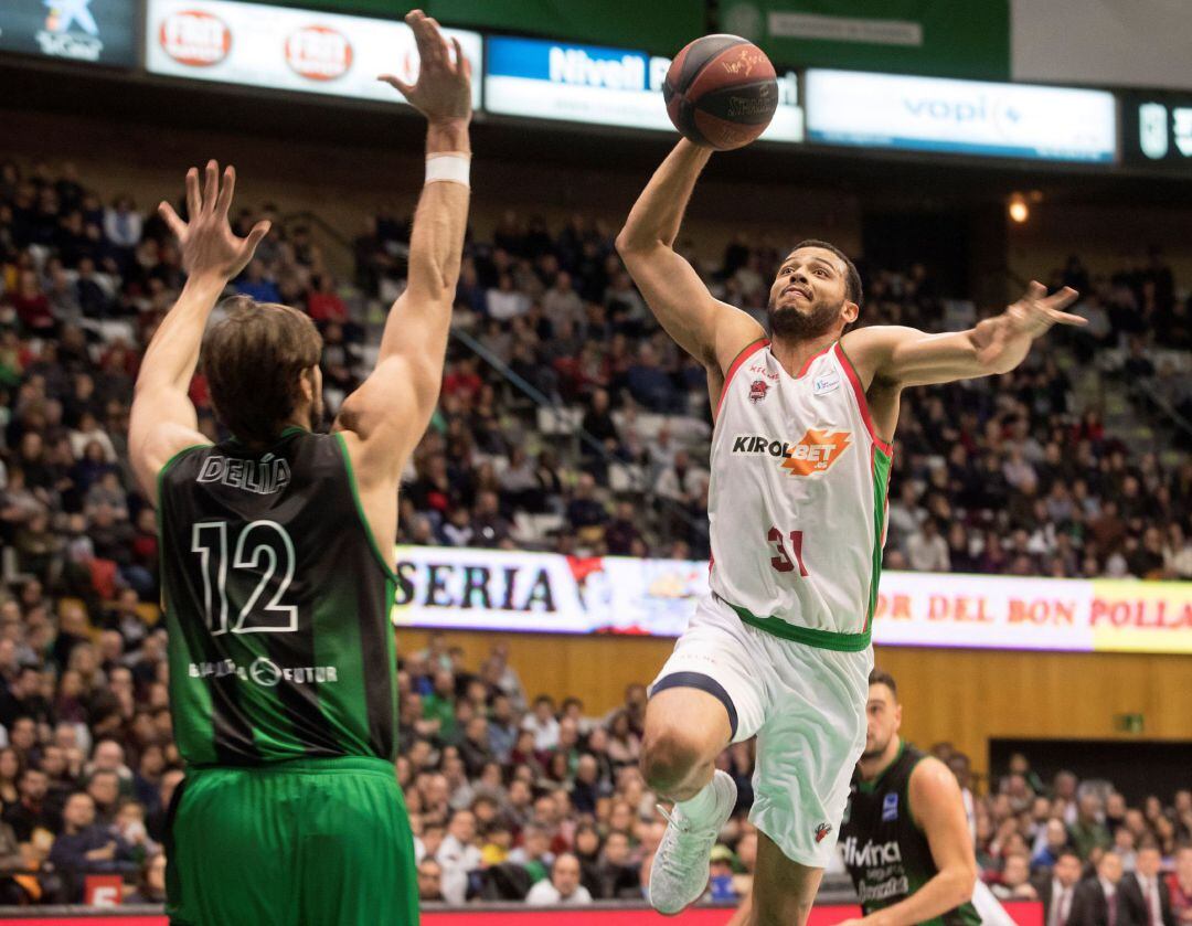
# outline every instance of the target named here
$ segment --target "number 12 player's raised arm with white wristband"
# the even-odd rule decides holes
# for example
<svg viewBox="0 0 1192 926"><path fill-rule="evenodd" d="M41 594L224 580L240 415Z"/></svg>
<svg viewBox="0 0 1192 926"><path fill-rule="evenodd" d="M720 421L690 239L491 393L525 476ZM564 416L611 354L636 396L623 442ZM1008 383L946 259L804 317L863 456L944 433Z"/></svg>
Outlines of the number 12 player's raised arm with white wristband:
<svg viewBox="0 0 1192 926"><path fill-rule="evenodd" d="M427 117L427 184L414 215L406 288L390 309L377 368L335 423L347 433L361 483L396 481L434 412L471 192L471 66L434 19L415 10L405 21L421 57L417 83L380 80Z"/></svg>

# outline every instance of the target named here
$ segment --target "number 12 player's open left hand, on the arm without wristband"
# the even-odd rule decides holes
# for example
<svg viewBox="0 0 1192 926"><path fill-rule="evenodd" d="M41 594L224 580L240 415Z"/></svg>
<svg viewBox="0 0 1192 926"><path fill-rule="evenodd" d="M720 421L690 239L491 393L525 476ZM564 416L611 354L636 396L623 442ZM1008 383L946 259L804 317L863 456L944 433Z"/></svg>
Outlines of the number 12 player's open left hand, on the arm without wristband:
<svg viewBox="0 0 1192 926"><path fill-rule="evenodd" d="M169 203L157 206L169 230L178 236L182 248L182 269L188 276L236 276L253 260L256 246L269 232L268 222L257 222L247 238L232 234L228 224L228 209L236 189L236 168L224 169L219 182L219 164L207 161L203 191L199 191L199 169L186 172L186 210L190 222L182 222Z"/></svg>

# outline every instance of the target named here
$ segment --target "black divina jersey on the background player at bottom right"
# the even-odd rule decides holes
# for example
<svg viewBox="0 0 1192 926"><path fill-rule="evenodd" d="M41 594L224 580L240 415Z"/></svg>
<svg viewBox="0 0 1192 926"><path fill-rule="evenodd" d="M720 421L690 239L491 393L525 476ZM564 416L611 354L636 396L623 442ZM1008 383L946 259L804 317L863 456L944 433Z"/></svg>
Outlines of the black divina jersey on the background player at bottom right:
<svg viewBox="0 0 1192 926"><path fill-rule="evenodd" d="M864 782L853 773L840 845L867 915L905 900L939 871L927 837L911 815L911 772L923 758L924 753L904 742L876 781ZM927 922L980 926L981 916L969 902Z"/></svg>

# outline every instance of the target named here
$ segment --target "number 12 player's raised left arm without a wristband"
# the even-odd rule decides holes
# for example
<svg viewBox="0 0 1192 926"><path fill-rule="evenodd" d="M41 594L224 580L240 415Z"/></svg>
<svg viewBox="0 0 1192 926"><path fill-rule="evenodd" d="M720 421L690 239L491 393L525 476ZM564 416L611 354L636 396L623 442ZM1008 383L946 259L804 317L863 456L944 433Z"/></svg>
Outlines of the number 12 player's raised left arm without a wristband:
<svg viewBox="0 0 1192 926"><path fill-rule="evenodd" d="M190 222L182 222L168 203L159 206L178 236L187 276L178 302L145 349L132 398L129 456L142 491L154 504L157 473L169 458L186 447L209 442L199 433L188 396L203 333L228 281L244 269L269 231L268 222L259 222L247 238L232 234L228 209L235 189L236 169L229 164L221 184L219 164L209 161L201 191L198 168L186 174Z"/></svg>

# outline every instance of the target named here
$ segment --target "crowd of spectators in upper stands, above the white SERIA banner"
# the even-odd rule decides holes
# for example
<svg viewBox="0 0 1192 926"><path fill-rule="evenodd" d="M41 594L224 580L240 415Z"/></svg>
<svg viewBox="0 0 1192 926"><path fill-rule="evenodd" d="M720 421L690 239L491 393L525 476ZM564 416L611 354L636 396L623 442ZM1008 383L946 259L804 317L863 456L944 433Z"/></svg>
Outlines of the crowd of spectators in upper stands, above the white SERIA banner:
<svg viewBox="0 0 1192 926"><path fill-rule="evenodd" d="M370 222L354 242L355 288L344 288L310 229L287 226L272 205L242 210L235 225L260 218L273 231L234 287L310 312L334 411L368 371L361 306L401 291L408 223ZM401 540L708 555L706 377L653 322L611 236L582 216L552 231L508 212L491 241L468 240L457 329L585 436L544 434L539 406L457 342L405 474ZM764 318L780 249L739 237L719 267L689 256L718 297ZM23 174L7 163L0 266L0 524L18 571L151 599L153 512L130 491L124 434L138 353L182 282L178 248L159 218L124 195L104 206L69 164ZM975 319L923 266L865 276L867 324ZM1192 347L1187 299L1154 249L1105 276L1074 257L1051 284L1085 293L1087 328L1054 331L1006 375L905 394L888 568L1192 578L1192 460L1107 431L1097 397L1076 396L1072 380L1074 363L1116 349L1123 378L1161 381L1178 406L1192 392L1179 385L1186 365L1159 369L1150 358ZM201 375L192 397L217 436Z"/></svg>

